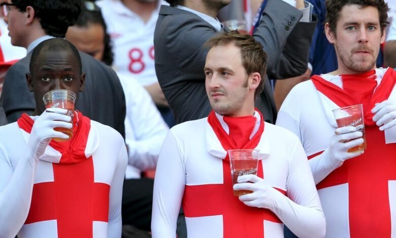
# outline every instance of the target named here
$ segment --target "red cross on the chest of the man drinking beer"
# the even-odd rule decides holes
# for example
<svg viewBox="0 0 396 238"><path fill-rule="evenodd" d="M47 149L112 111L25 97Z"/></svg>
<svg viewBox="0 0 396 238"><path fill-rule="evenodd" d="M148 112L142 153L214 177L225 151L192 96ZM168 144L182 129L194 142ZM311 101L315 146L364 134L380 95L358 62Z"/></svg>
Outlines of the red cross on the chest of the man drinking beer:
<svg viewBox="0 0 396 238"><path fill-rule="evenodd" d="M25 224L56 220L59 238L92 237L93 221L108 222L110 186L94 182L92 156L52 167L54 182L33 187Z"/></svg>

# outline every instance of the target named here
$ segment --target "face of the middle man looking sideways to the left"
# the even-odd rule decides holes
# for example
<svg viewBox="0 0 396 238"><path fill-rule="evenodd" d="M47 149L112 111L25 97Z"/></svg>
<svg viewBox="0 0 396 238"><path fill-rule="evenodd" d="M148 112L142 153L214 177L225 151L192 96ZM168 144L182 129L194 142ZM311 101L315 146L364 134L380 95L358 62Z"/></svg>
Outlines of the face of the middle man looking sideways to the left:
<svg viewBox="0 0 396 238"><path fill-rule="evenodd" d="M234 44L213 47L206 57L204 71L206 93L215 112L228 116L253 114L258 73L246 74L238 47Z"/></svg>

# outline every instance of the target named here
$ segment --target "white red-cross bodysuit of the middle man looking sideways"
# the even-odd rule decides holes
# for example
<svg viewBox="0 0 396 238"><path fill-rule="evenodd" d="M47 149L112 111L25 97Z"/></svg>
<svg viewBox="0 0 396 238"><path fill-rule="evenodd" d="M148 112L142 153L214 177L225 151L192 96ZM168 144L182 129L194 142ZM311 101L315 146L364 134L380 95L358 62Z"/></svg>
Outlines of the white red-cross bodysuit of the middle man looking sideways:
<svg viewBox="0 0 396 238"><path fill-rule="evenodd" d="M223 117L216 117L228 134ZM263 122L257 112L255 117L257 128ZM207 120L173 127L162 145L154 181L153 238L176 236L182 203L189 238L283 237L283 223L301 237L315 237L323 213L298 138L265 123L256 149L263 179L276 188L276 199L270 209L252 208L226 184L231 176L227 153Z"/></svg>

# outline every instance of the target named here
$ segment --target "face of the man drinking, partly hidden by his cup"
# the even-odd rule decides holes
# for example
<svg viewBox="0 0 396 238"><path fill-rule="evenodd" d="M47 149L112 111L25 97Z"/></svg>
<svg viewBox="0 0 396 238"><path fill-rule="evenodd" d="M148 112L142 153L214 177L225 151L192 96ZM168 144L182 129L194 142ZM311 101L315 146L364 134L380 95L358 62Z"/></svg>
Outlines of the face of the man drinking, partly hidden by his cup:
<svg viewBox="0 0 396 238"><path fill-rule="evenodd" d="M26 79L36 100L34 115L40 115L45 110L43 96L51 90L67 89L78 98L84 89L85 73L80 74L77 59L71 52L43 50L32 72L26 74Z"/></svg>

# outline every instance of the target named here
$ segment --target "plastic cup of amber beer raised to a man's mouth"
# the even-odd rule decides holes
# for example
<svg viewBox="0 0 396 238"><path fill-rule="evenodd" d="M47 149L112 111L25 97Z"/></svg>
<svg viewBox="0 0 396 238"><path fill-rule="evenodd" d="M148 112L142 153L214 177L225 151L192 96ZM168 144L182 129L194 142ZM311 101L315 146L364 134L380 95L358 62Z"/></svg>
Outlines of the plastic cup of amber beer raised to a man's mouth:
<svg viewBox="0 0 396 238"><path fill-rule="evenodd" d="M74 103L76 101L76 95L69 90L59 89L59 90L52 90L46 93L43 97L45 108L63 108L67 109L68 112L65 115L71 116L73 121L74 116ZM63 142L68 141L73 137L73 128L62 128L62 127L55 127L55 131L62 132L69 136L67 139L63 138L52 138L54 141Z"/></svg>

